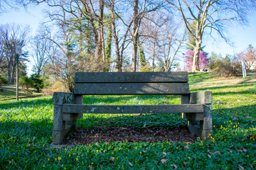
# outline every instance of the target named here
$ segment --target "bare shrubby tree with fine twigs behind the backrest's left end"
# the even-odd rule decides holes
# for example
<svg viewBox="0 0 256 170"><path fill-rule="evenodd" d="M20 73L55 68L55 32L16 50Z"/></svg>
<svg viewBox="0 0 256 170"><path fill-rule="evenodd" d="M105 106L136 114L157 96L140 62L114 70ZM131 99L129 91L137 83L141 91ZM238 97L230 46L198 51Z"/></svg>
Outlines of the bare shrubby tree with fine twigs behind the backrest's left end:
<svg viewBox="0 0 256 170"><path fill-rule="evenodd" d="M52 29L46 26L43 37L50 40L56 48L50 49L52 56L46 68L48 73L55 76L55 78L63 81L63 84L69 91L74 90L74 76L75 72L80 69L78 62L79 50L75 48L73 42L73 32L68 31L68 16L65 11L59 11L58 15L50 16L56 22L58 31L54 33Z"/></svg>

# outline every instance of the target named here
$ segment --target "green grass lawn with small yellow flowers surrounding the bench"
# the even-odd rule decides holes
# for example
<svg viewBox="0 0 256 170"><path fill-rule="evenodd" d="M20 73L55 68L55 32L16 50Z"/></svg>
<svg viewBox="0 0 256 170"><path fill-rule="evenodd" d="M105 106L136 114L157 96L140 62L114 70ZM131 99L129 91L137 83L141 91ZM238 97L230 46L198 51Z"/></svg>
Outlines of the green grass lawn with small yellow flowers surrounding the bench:
<svg viewBox="0 0 256 170"><path fill-rule="evenodd" d="M191 91L213 92L213 136L202 142L97 142L51 147L52 96L0 101L0 169L255 169L256 84L247 79L189 74ZM221 86L217 85L232 85ZM181 103L177 96L84 96L84 103ZM176 128L181 113L134 116L84 114L83 128ZM96 122L96 123L95 123ZM101 122L101 124L97 123Z"/></svg>

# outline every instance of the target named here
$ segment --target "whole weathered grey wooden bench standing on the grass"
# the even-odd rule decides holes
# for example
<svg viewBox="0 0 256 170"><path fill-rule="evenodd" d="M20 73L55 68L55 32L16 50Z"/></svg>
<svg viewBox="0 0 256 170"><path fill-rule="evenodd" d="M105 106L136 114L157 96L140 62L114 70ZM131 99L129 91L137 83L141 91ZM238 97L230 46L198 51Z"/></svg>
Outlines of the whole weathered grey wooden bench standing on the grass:
<svg viewBox="0 0 256 170"><path fill-rule="evenodd" d="M83 105L82 95L181 95L181 104ZM82 113L183 113L191 133L207 140L213 133L211 102L210 91L189 92L187 72L78 72L74 93L53 94L53 144L75 130Z"/></svg>

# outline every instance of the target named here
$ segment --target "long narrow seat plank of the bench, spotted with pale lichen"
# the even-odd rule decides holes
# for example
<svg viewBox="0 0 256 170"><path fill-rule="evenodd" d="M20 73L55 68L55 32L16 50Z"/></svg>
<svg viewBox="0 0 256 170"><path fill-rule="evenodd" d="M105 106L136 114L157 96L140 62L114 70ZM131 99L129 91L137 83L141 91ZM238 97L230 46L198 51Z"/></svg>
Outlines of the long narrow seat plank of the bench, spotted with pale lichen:
<svg viewBox="0 0 256 170"><path fill-rule="evenodd" d="M201 104L181 105L75 105L64 104L63 113L203 113Z"/></svg>

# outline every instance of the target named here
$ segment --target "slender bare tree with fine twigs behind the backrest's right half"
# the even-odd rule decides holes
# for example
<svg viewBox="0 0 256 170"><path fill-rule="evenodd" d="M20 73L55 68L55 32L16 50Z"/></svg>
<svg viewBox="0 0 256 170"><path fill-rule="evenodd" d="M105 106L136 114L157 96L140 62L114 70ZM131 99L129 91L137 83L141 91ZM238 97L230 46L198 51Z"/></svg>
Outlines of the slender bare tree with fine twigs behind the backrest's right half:
<svg viewBox="0 0 256 170"><path fill-rule="evenodd" d="M174 22L172 15L167 10L147 14L140 35L140 38L145 38L144 47L148 50L152 68L155 69L155 61L157 61L161 63L165 72L169 72L174 67L181 48L181 42L177 43L174 38L168 36L178 38L181 34L177 33L180 23ZM182 40L185 40L185 35L185 33L181 35Z"/></svg>

